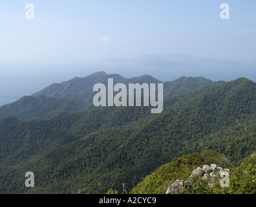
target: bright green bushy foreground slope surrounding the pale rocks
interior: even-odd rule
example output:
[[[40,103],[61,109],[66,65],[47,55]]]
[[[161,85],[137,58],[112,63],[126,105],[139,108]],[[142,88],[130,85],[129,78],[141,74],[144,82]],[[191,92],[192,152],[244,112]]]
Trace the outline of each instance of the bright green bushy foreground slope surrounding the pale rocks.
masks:
[[[232,166],[229,159],[216,151],[204,150],[201,153],[183,155],[183,157],[173,158],[155,169],[153,173],[147,175],[136,187],[131,190],[131,194],[165,194],[168,186],[171,186],[176,179],[181,180],[183,187],[179,187],[179,193],[183,194],[237,194],[256,193],[256,153],[251,153],[238,167]],[[216,164],[228,171],[228,186],[220,186],[220,179],[201,179],[197,176],[191,183],[186,184],[185,180],[190,177],[194,169],[203,166]],[[218,175],[218,174],[216,174]],[[218,178],[218,177],[216,177]],[[215,182],[214,182],[215,181]],[[212,185],[209,183],[212,182]]]

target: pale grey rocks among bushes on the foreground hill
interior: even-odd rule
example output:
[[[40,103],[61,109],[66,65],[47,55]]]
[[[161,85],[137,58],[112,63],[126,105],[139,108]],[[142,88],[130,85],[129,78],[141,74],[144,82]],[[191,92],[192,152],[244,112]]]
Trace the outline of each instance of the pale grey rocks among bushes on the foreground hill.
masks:
[[[179,194],[183,190],[185,184],[190,184],[193,177],[201,177],[202,179],[209,180],[209,186],[213,186],[216,179],[220,179],[222,174],[229,173],[229,169],[223,169],[216,164],[211,164],[211,166],[204,165],[203,168],[193,169],[190,176],[183,182],[183,180],[177,179],[172,185],[168,186],[166,194]],[[183,184],[184,183],[184,184]]]

